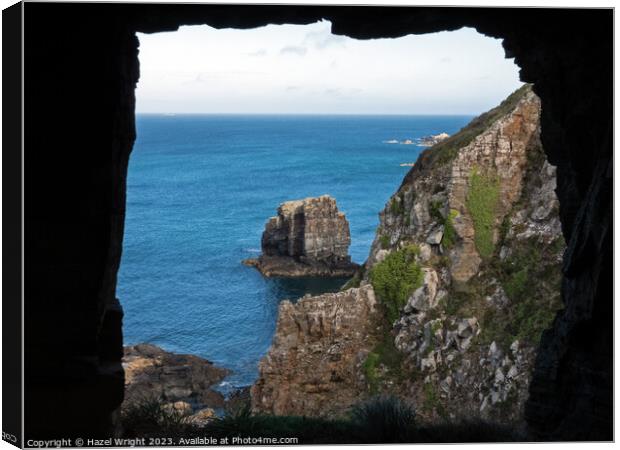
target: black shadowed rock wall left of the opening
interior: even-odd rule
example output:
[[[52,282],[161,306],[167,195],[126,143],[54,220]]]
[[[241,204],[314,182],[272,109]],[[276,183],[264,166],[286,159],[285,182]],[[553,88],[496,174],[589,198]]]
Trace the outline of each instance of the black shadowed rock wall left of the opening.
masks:
[[[138,41],[103,6],[29,3],[25,17],[26,437],[104,436],[123,400]]]

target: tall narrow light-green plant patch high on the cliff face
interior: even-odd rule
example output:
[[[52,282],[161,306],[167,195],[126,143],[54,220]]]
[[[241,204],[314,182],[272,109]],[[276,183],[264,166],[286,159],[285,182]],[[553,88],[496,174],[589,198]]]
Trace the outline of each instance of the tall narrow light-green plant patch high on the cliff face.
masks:
[[[474,243],[483,259],[493,255],[495,244],[495,209],[499,200],[499,179],[480,174],[474,169],[469,178],[469,192],[465,204],[474,223]]]

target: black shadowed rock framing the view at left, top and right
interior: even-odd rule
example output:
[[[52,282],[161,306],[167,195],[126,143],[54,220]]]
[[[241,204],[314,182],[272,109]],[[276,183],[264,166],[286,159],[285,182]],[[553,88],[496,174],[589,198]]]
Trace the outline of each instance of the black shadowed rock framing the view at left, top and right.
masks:
[[[612,438],[611,10],[25,5],[26,436],[106,434],[122,401],[115,299],[138,79],[135,31],[332,22],[354,38],[475,27],[542,100],[568,242],[566,308],[542,340],[536,439]]]

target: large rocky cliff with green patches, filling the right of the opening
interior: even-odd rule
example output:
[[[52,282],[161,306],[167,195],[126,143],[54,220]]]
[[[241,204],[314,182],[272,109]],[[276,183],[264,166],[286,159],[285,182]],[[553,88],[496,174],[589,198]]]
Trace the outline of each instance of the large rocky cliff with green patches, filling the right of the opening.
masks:
[[[369,258],[349,284],[359,289],[282,306],[254,408],[329,415],[393,393],[426,420],[520,423],[540,334],[561,305],[565,247],[555,169],[539,135],[540,101],[524,86],[422,153],[380,214]],[[309,320],[309,305],[324,317],[359,290],[374,294],[379,313],[360,314],[336,340],[320,326],[294,325]],[[330,359],[330,345],[343,341],[358,352]],[[347,374],[345,399],[328,373]],[[286,400],[274,407],[276,399]]]

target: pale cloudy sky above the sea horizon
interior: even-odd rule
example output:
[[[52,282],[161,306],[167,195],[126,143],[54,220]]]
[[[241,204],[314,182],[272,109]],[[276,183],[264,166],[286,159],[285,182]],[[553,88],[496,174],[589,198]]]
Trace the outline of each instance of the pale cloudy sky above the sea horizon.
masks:
[[[138,113],[480,114],[521,86],[473,29],[356,40],[326,21],[139,34]]]

